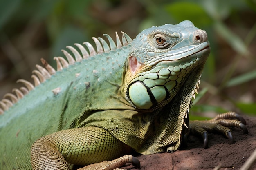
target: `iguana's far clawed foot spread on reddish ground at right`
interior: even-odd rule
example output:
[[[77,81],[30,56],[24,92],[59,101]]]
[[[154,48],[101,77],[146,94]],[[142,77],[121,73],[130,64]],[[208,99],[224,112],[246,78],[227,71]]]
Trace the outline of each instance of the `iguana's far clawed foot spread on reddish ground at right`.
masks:
[[[229,138],[229,144],[233,144],[232,131],[228,127],[237,127],[248,133],[245,119],[234,112],[227,112],[206,121],[190,121],[190,131],[201,135],[204,139],[204,148],[208,148],[208,132],[220,132]]]

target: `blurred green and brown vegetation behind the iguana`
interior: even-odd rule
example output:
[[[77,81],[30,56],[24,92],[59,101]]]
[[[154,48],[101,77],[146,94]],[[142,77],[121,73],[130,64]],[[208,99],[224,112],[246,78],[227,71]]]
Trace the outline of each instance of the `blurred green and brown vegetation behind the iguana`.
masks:
[[[0,97],[67,45],[191,20],[211,43],[193,112],[256,114],[255,18],[255,0],[1,0]]]

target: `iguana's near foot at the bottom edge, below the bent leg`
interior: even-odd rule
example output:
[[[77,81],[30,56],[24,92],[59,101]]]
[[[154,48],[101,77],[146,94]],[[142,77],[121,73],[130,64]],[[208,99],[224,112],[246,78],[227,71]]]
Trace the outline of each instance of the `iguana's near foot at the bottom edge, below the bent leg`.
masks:
[[[124,166],[126,163],[132,163],[135,168],[140,167],[140,162],[136,157],[133,157],[132,155],[124,155],[123,157],[114,159],[112,161],[90,164],[78,170],[125,170],[119,168]]]

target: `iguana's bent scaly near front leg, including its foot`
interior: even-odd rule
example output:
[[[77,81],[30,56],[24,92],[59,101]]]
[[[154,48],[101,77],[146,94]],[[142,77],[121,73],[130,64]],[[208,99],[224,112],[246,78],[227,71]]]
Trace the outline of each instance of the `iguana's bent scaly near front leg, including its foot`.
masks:
[[[99,162],[79,170],[112,170],[126,163],[139,166],[139,161],[131,155],[120,157],[130,150],[102,128],[74,128],[36,140],[31,146],[31,164],[33,170],[70,170],[69,164],[85,166]],[[112,159],[115,160],[106,161]]]

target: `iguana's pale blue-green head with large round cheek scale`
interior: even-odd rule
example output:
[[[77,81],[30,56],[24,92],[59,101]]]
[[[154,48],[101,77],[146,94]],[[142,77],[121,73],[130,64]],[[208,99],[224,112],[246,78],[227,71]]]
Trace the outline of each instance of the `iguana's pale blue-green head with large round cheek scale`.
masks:
[[[139,109],[165,106],[209,52],[207,33],[190,21],[146,29],[132,42],[123,95]]]

